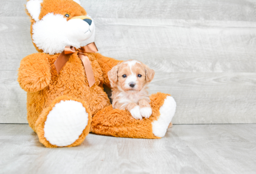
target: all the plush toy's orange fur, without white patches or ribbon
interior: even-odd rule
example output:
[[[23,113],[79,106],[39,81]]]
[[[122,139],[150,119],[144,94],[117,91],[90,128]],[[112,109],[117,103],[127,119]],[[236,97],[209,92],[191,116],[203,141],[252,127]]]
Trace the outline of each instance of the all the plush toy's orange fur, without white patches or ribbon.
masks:
[[[86,11],[73,0],[44,0],[41,4],[41,19],[47,13],[69,13],[71,17],[86,15]],[[31,35],[34,19],[31,19]],[[34,45],[39,52],[36,45]],[[103,84],[110,87],[108,71],[122,62],[99,53],[87,53],[96,83],[90,88],[81,59],[74,53],[58,75],[54,61],[60,54],[34,53],[20,62],[18,82],[27,91],[27,121],[37,133],[39,140],[48,148],[57,147],[44,137],[44,122],[48,113],[61,100],[74,100],[83,104],[89,114],[88,126],[74,143],[77,146],[88,135],[88,131],[99,135],[132,138],[159,138],[152,133],[151,122],[160,115],[159,108],[168,94],[150,96],[152,116],[135,120],[125,110],[114,110]],[[92,118],[91,118],[92,117]],[[91,125],[90,125],[91,123]]]

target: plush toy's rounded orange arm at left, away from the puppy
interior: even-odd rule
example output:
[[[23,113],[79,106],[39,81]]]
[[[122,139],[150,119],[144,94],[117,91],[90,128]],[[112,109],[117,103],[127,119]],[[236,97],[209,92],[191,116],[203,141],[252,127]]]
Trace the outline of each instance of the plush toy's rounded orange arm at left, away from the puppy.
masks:
[[[34,53],[20,62],[18,82],[27,92],[44,89],[51,79],[50,64],[45,53]]]

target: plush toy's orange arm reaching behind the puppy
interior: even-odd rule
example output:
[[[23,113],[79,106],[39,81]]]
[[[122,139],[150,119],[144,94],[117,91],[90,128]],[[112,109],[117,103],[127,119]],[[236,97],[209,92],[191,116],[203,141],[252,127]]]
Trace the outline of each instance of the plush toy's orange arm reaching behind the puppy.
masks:
[[[106,84],[110,88],[111,86],[108,79],[108,71],[110,71],[118,63],[121,63],[122,60],[116,60],[115,58],[108,58],[108,57],[102,56],[100,53],[95,53],[94,56],[97,58],[97,61],[101,66],[101,70],[103,72],[104,84]]]

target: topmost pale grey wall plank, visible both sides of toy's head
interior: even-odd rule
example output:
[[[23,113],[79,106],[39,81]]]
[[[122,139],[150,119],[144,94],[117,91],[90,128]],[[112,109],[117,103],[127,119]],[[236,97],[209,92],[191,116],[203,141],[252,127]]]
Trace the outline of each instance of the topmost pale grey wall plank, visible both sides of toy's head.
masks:
[[[255,0],[80,0],[94,18],[256,21]],[[26,0],[1,0],[0,16],[26,17]]]

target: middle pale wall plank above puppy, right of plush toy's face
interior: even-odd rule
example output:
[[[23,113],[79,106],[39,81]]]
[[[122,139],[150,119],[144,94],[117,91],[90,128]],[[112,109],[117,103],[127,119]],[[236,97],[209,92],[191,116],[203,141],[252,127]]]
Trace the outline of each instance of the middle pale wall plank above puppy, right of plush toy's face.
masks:
[[[106,56],[138,59],[161,72],[256,72],[256,22],[95,21]]]

